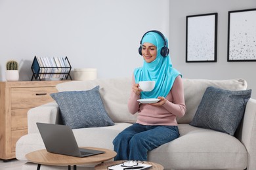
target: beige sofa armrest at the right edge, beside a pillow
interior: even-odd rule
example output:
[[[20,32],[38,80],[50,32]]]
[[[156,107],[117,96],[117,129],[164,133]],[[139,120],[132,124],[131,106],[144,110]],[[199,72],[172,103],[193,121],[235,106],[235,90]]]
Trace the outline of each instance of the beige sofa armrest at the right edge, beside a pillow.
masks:
[[[245,108],[244,120],[237,135],[247,149],[247,169],[256,167],[256,100],[249,99]]]

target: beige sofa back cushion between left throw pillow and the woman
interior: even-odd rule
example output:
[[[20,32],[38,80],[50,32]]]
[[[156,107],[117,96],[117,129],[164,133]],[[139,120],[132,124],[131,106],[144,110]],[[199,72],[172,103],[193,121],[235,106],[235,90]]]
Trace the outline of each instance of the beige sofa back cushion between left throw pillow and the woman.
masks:
[[[137,114],[130,114],[127,108],[131,93],[131,78],[71,81],[57,84],[56,88],[59,92],[81,91],[91,90],[98,85],[106,112],[114,122],[136,122]]]

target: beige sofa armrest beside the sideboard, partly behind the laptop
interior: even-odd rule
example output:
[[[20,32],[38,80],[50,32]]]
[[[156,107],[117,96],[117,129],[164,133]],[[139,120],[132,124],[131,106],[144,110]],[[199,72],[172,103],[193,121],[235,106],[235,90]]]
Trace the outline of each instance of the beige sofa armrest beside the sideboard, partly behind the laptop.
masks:
[[[28,110],[28,133],[39,133],[36,122],[59,123],[59,109],[56,102],[47,103]]]

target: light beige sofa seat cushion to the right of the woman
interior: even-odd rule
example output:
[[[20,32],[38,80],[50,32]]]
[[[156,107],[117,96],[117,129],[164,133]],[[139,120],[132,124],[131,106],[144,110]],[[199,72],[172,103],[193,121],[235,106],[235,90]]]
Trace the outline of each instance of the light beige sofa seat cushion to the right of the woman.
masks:
[[[148,160],[165,169],[246,168],[247,151],[235,137],[189,124],[179,124],[179,131],[178,139],[152,150]]]

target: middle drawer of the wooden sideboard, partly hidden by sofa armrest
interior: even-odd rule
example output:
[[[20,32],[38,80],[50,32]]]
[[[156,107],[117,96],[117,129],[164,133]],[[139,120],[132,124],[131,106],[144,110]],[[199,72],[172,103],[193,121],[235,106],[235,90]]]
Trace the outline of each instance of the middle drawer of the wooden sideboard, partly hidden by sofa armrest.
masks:
[[[29,109],[11,110],[11,130],[28,129],[28,110]]]

